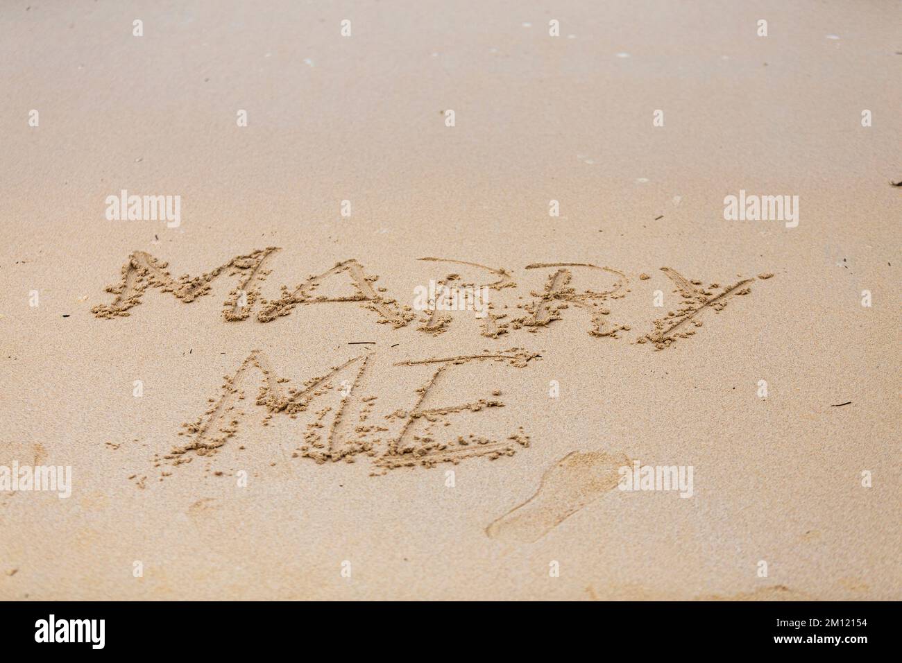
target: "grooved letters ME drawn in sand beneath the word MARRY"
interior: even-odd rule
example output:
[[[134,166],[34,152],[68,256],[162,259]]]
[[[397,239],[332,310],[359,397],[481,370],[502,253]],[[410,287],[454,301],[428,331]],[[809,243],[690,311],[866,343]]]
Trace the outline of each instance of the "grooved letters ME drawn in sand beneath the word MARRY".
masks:
[[[235,373],[225,376],[218,399],[210,399],[211,406],[196,421],[183,424],[179,435],[190,437],[188,444],[173,447],[170,453],[162,456],[161,461],[171,465],[189,462],[189,452],[198,456],[208,456],[223,447],[230,437],[238,432],[247,412],[241,409],[244,401],[247,375],[257,370],[262,375],[260,390],[254,404],[266,410],[263,425],[273,416],[288,415],[296,419],[302,412],[308,411],[310,404],[318,398],[329,394],[337,404],[326,405],[313,413],[312,420],[306,425],[303,443],[297,447],[294,456],[312,458],[318,463],[329,460],[354,462],[357,456],[372,457],[374,464],[383,469],[400,466],[436,465],[442,462],[456,463],[466,457],[511,456],[519,447],[529,447],[529,436],[522,428],[506,439],[499,440],[478,434],[442,436],[433,431],[439,425],[449,425],[449,418],[462,412],[479,412],[504,406],[503,401],[495,398],[477,398],[465,402],[451,404],[432,403],[434,387],[439,380],[447,380],[448,373],[455,366],[471,362],[501,362],[516,368],[526,367],[539,355],[520,348],[511,348],[499,353],[486,351],[478,355],[456,355],[450,357],[434,357],[423,360],[398,362],[395,366],[416,366],[425,364],[437,365],[423,386],[417,390],[416,400],[410,409],[394,410],[385,415],[384,422],[374,423],[371,420],[373,403],[376,397],[364,396],[364,378],[374,355],[359,355],[348,359],[343,364],[333,367],[328,373],[309,379],[300,389],[291,388],[288,378],[280,378],[272,371],[265,354],[254,350],[248,355]],[[354,371],[354,369],[356,369]],[[348,379],[341,383],[337,380],[343,375]],[[337,395],[340,392],[340,397]],[[500,391],[494,393],[500,394]],[[356,410],[357,418],[353,418]],[[324,423],[327,416],[333,417],[331,425]],[[396,435],[391,435],[391,426],[398,428]],[[415,432],[417,429],[422,430]],[[243,448],[243,447],[242,447]]]

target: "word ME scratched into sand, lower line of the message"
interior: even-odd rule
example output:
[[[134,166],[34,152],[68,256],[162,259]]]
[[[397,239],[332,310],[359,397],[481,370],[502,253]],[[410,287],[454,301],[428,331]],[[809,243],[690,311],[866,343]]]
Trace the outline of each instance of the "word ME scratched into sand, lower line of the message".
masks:
[[[259,387],[254,405],[265,413],[263,425],[274,424],[274,418],[306,420],[303,436],[298,440],[293,457],[306,457],[318,463],[340,461],[353,463],[358,458],[373,461],[372,474],[388,469],[438,463],[457,463],[464,458],[512,456],[520,447],[529,446],[529,436],[522,428],[503,433],[474,435],[467,432],[475,413],[504,407],[500,383],[483,396],[462,400],[443,390],[453,382],[451,376],[465,368],[483,368],[483,378],[502,382],[503,376],[491,369],[527,368],[540,357],[521,348],[476,355],[432,357],[393,362],[383,365],[378,380],[370,378],[374,364],[386,364],[375,353],[355,356],[344,364],[333,366],[326,374],[309,378],[294,388],[290,379],[280,377],[270,359],[254,350],[235,373],[227,375],[219,395],[211,398],[210,407],[196,421],[183,424],[181,436],[186,444],[173,447],[158,456],[159,464],[182,465],[195,456],[213,456],[234,437],[248,412],[243,409],[245,391]],[[398,394],[404,407],[374,414],[378,396],[373,386],[382,384],[390,369],[423,369],[422,383],[410,394]],[[472,373],[471,373],[472,376]],[[253,382],[253,377],[257,382]],[[454,385],[451,384],[453,387]],[[483,385],[484,387],[484,385]],[[287,424],[293,431],[297,424]],[[503,428],[503,425],[502,425]],[[243,447],[239,447],[241,449]]]

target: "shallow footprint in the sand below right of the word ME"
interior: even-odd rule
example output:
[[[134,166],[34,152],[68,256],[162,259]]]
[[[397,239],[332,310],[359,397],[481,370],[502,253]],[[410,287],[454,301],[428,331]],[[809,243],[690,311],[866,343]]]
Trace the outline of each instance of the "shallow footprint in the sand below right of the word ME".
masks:
[[[502,541],[538,541],[616,487],[623,465],[630,465],[630,459],[623,455],[572,451],[548,468],[529,500],[492,522],[485,533]]]

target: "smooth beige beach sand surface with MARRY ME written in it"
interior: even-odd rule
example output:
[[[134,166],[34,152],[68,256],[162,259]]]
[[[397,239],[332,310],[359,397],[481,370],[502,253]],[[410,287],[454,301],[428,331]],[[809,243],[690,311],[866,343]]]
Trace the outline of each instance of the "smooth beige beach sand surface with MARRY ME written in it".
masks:
[[[0,598],[902,599],[897,3],[555,5],[0,6]]]

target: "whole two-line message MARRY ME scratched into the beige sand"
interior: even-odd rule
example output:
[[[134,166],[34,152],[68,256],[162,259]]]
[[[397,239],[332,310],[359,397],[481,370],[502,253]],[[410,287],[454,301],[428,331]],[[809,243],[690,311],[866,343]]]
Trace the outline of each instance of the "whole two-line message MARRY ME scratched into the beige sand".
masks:
[[[591,336],[618,339],[631,331],[629,324],[610,321],[612,308],[609,307],[631,292],[627,273],[612,267],[586,262],[530,263],[525,270],[544,272],[546,279],[540,289],[529,290],[527,299],[518,294],[513,274],[506,268],[449,258],[421,258],[420,261],[440,265],[450,273],[430,279],[428,286],[417,284],[413,288],[411,306],[400,303],[387,289],[377,286],[378,277],[367,272],[362,262],[352,258],[309,276],[294,288],[283,285],[278,296],[266,299],[262,297],[263,283],[271,274],[273,256],[279,251],[274,246],[259,249],[235,256],[200,276],[186,274],[179,278],[171,276],[167,263],[149,253],[136,251],[123,265],[120,281],[106,289],[114,295],[113,301],[98,305],[92,311],[97,318],[128,317],[131,310],[142,303],[148,289],[169,292],[180,301],[192,302],[209,294],[213,281],[227,275],[236,279],[223,304],[222,315],[229,323],[248,320],[254,313],[257,322],[272,323],[277,318],[289,316],[299,306],[351,303],[369,311],[376,322],[394,329],[407,327],[419,313],[417,329],[433,336],[446,332],[453,319],[452,311],[468,307],[474,310],[473,318],[478,321],[482,336],[492,339],[522,332],[538,333],[562,320],[568,308],[588,314]],[[459,273],[474,271],[485,272],[485,282],[467,281]],[[686,278],[670,267],[662,267],[660,272],[671,282],[678,303],[671,305],[670,310],[665,308],[666,314],[658,314],[650,329],[635,333],[633,337],[634,343],[657,350],[667,348],[677,339],[694,336],[696,329],[702,326],[700,318],[705,311],[719,312],[734,295],[749,293],[750,283],[754,281],[740,278],[730,285],[712,282],[704,286],[702,281]],[[603,286],[577,290],[573,284],[575,273],[579,273],[581,279],[591,278],[590,282],[603,283]],[[759,279],[770,276],[772,274],[761,274]],[[638,278],[639,281],[651,279],[645,273],[640,273]],[[341,294],[336,294],[336,286],[341,287]],[[321,294],[324,290],[332,294]],[[507,293],[505,297],[501,296],[502,290]],[[488,292],[499,293],[498,301],[492,301]],[[651,305],[663,308],[663,299],[663,292],[654,290]],[[302,386],[293,388],[289,378],[277,376],[266,355],[254,350],[235,373],[226,376],[218,395],[208,400],[207,411],[197,420],[183,425],[179,435],[187,437],[188,441],[157,456],[155,463],[157,466],[184,465],[198,456],[215,456],[230,438],[238,435],[248,416],[244,406],[248,402],[245,386],[252,379],[250,375],[260,377],[259,382],[255,382],[259,392],[253,403],[264,410],[263,426],[279,428],[285,425],[285,419],[303,417],[306,420],[303,439],[292,457],[307,457],[318,463],[370,459],[373,474],[384,474],[387,469],[400,466],[457,463],[472,456],[511,456],[518,448],[529,445],[529,436],[510,420],[501,432],[486,432],[484,413],[497,412],[504,406],[500,398],[502,390],[495,388],[490,392],[486,384],[490,379],[502,381],[502,377],[477,377],[472,372],[487,365],[526,368],[540,357],[538,353],[513,347],[405,362],[387,362],[387,356],[372,351],[354,356],[325,375],[309,378]],[[419,367],[428,373],[421,378],[420,386],[409,394],[408,401],[403,401],[404,407],[377,410],[378,396],[367,394],[366,387],[373,383],[369,371],[376,364],[381,364],[376,383],[390,380],[386,372],[392,369],[404,371]],[[443,399],[439,392],[448,387],[449,375],[464,366],[472,373],[465,377],[464,383],[478,385],[477,389],[482,389],[483,393],[468,400]],[[410,374],[397,375],[399,383],[405,380],[410,381]],[[554,381],[550,384],[549,395],[554,397],[557,385]],[[450,391],[455,393],[454,389]],[[474,428],[467,428],[473,425],[468,417],[478,412],[483,413],[482,434],[475,435]],[[512,423],[517,429],[511,430]],[[296,437],[296,431],[289,434]],[[237,448],[244,449],[244,446]],[[143,482],[145,478],[138,481]]]

